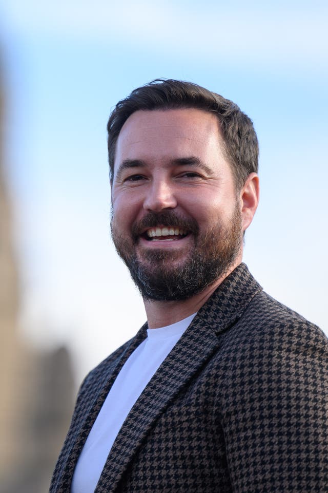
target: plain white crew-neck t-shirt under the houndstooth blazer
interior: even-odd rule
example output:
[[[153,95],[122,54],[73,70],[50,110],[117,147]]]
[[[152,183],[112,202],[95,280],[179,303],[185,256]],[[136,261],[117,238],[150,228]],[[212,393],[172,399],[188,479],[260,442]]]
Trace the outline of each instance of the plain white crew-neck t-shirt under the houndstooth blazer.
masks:
[[[167,327],[147,330],[147,338],[122,366],[91,428],[74,470],[71,493],[94,493],[127,415],[195,315]]]

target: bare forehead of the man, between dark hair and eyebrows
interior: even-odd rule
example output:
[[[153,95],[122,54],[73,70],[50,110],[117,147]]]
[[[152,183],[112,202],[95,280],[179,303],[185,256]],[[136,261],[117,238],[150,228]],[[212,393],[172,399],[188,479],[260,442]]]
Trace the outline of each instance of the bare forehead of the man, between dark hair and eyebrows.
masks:
[[[217,117],[195,108],[139,110],[122,126],[115,163],[124,159],[183,157],[186,154],[222,154]]]

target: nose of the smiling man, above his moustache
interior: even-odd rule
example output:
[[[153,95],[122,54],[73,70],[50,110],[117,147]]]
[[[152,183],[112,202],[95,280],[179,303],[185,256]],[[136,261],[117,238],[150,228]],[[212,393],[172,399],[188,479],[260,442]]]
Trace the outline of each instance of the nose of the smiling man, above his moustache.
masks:
[[[174,209],[176,206],[177,201],[173,193],[172,184],[164,179],[153,181],[147,189],[144,209],[146,211],[160,212],[163,209]]]

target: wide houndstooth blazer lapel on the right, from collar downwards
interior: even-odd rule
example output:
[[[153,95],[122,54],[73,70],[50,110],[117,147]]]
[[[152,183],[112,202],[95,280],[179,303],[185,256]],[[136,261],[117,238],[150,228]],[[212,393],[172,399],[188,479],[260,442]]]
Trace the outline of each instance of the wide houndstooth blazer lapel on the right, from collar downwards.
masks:
[[[225,279],[139,396],[113,444],[95,493],[115,491],[159,415],[220,345],[220,334],[241,317],[261,287],[244,264]]]

